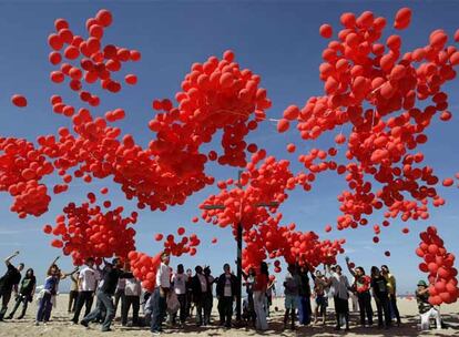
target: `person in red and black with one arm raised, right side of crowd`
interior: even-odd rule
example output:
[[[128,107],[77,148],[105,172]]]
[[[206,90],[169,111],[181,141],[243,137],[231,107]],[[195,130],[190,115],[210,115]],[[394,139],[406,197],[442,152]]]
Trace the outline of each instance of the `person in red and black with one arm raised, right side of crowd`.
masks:
[[[365,321],[365,316],[368,319],[368,326],[373,325],[373,308],[371,308],[371,278],[368,275],[365,275],[365,269],[363,267],[356,267],[354,270],[350,266],[349,258],[346,257],[347,268],[349,273],[354,276],[354,289],[357,293],[358,307],[360,309],[360,325],[367,326]]]

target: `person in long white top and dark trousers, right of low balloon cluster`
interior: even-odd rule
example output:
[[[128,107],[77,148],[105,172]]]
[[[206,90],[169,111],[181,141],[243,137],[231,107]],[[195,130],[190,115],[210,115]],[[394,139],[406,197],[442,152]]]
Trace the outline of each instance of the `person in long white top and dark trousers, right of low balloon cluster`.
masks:
[[[156,285],[151,300],[151,331],[159,335],[163,328],[163,320],[166,313],[166,297],[171,288],[171,269],[169,268],[170,255],[164,252],[161,254],[161,265],[156,272]]]

